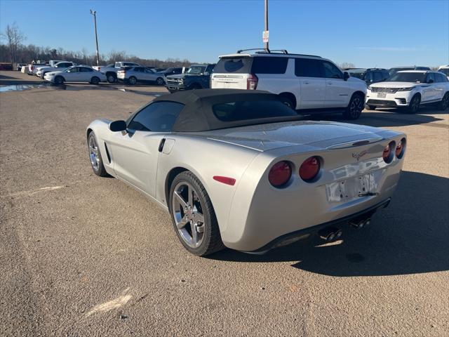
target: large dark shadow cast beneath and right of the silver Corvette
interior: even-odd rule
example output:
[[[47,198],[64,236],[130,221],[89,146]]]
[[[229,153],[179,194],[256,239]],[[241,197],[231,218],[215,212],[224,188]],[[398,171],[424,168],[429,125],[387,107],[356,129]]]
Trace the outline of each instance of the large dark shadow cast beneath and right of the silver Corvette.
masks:
[[[243,263],[291,261],[297,269],[335,277],[449,270],[448,192],[448,178],[404,171],[389,207],[376,213],[369,227],[344,227],[340,242],[325,244],[314,237],[264,255],[226,249],[210,258]]]

